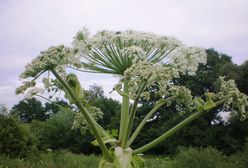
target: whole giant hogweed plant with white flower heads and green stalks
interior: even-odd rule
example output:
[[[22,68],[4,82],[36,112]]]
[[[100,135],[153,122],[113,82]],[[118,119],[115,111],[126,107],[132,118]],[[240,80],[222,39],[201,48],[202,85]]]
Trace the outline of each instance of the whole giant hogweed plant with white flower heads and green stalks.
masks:
[[[233,80],[220,78],[218,92],[206,92],[205,97],[195,98],[186,87],[173,83],[181,74],[194,75],[198,65],[204,63],[204,49],[186,47],[175,38],[136,31],[101,31],[90,35],[87,29],[82,29],[74,37],[72,48],[63,45],[51,47],[28,64],[20,76],[23,85],[16,92],[44,97],[40,95],[44,91],[36,87],[36,81],[47,73],[48,77],[43,78],[46,91],[63,91],[65,98],[80,111],[74,127],[89,129],[94,135],[96,140],[93,144],[98,145],[103,154],[99,168],[139,168],[144,167],[144,160],[139,154],[217,106],[223,107],[223,111],[234,112],[242,120],[248,117],[247,96],[239,92]],[[119,78],[114,87],[122,97],[118,138],[97,123],[102,112],[89,105],[77,76],[67,74],[68,68],[112,74]],[[140,100],[149,99],[150,93],[158,101],[134,128],[136,111],[142,106]],[[176,104],[175,109],[180,113],[190,112],[191,115],[161,132],[161,136],[148,144],[133,149],[132,143],[147,121],[156,117],[154,115],[159,108],[172,104]]]

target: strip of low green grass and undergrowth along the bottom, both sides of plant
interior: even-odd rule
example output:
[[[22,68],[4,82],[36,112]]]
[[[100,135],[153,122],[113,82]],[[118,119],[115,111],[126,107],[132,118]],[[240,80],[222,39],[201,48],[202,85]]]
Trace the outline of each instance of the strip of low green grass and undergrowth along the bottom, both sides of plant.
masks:
[[[145,155],[147,168],[247,168],[248,148],[231,156],[208,148],[181,148],[178,154],[166,156]],[[0,168],[97,168],[100,156],[79,155],[70,152],[43,152],[24,159],[0,156]]]

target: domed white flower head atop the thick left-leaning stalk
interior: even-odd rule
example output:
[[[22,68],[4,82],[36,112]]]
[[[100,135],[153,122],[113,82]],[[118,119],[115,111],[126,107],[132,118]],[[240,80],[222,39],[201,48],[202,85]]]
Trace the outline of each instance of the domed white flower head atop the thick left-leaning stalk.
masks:
[[[64,45],[50,47],[48,50],[41,52],[30,64],[26,65],[25,71],[20,78],[26,79],[36,77],[42,71],[50,69],[64,70],[65,65],[79,66],[79,56],[76,51]]]

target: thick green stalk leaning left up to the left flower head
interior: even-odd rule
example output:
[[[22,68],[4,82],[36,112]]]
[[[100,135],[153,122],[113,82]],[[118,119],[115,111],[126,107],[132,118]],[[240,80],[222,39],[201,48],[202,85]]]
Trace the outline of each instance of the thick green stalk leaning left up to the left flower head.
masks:
[[[88,110],[81,104],[81,102],[77,101],[77,98],[75,96],[75,93],[71,89],[71,87],[68,85],[66,81],[63,80],[63,78],[55,71],[51,70],[51,72],[54,74],[54,76],[59,80],[59,82],[63,85],[63,87],[66,89],[66,91],[70,94],[72,99],[76,100],[75,105],[79,108],[83,116],[85,117],[86,121],[88,122],[94,136],[96,137],[96,140],[103,152],[103,157],[108,162],[113,162],[112,157],[110,156],[110,153],[108,151],[108,148],[103,143],[100,133],[95,125],[96,121],[92,118],[92,116],[89,114]]]

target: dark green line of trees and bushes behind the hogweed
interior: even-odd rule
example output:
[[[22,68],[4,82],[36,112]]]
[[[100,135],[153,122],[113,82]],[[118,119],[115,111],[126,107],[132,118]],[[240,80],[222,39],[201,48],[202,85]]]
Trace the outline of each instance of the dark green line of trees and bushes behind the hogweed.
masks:
[[[248,94],[248,61],[236,65],[231,57],[214,49],[206,50],[208,61],[200,65],[196,76],[184,75],[175,81],[192,91],[193,96],[203,96],[205,91],[218,87],[218,77],[234,79],[238,88]],[[156,88],[154,88],[156,89]],[[118,136],[120,104],[104,96],[101,87],[92,86],[87,92],[91,105],[99,107],[103,116],[98,122],[113,136]],[[144,106],[137,112],[137,125],[156,102],[151,96],[149,101],[142,100]],[[71,110],[74,109],[74,110]],[[160,136],[177,124],[189,113],[176,112],[171,107],[162,107],[153,119],[143,128],[134,149]],[[68,150],[74,153],[99,153],[98,147],[91,144],[94,140],[89,130],[72,129],[77,110],[67,102],[42,104],[37,99],[25,99],[14,105],[10,113],[1,107],[0,115],[0,154],[24,157],[30,152],[46,150]],[[152,125],[152,127],[150,127]],[[242,151],[248,137],[248,121],[241,122],[220,109],[209,112],[185,129],[149,151],[152,154],[174,155],[179,146],[212,146],[226,155]]]

